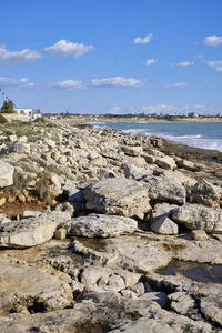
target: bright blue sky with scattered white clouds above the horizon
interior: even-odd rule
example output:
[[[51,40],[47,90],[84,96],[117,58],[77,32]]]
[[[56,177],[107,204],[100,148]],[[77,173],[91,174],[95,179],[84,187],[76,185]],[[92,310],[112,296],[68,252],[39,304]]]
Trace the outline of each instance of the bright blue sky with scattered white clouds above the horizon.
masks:
[[[221,0],[0,0],[0,105],[222,113]]]

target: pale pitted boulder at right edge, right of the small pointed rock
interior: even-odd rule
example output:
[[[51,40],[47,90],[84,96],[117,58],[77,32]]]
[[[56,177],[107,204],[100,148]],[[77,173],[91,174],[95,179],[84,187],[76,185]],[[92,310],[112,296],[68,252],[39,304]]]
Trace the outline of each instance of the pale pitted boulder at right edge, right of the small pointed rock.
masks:
[[[191,230],[222,233],[222,210],[186,203],[173,211],[173,219]]]

